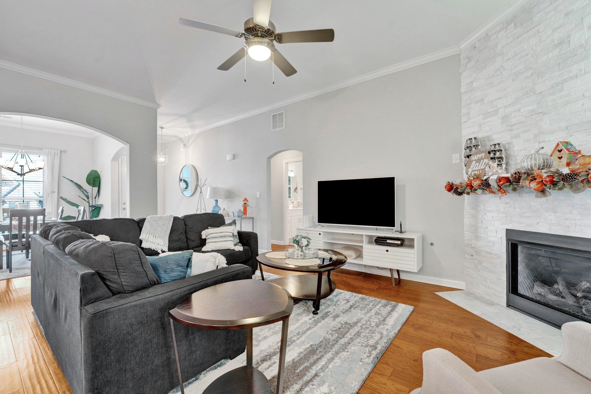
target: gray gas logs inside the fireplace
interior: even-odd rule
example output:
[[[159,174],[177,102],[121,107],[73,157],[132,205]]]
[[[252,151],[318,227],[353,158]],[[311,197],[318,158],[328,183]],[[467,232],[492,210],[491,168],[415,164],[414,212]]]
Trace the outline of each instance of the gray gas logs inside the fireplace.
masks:
[[[574,288],[569,289],[564,279],[558,276],[557,283],[553,287],[544,285],[541,282],[534,283],[534,293],[553,301],[557,304],[573,305],[581,307],[583,313],[591,316],[591,284],[583,281]]]

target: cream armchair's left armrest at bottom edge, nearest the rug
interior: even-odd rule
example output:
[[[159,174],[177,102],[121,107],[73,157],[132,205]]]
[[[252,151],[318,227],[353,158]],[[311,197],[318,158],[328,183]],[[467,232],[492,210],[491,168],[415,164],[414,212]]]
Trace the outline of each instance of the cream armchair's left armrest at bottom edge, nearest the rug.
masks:
[[[421,394],[500,394],[491,383],[450,351],[431,349],[423,353]]]

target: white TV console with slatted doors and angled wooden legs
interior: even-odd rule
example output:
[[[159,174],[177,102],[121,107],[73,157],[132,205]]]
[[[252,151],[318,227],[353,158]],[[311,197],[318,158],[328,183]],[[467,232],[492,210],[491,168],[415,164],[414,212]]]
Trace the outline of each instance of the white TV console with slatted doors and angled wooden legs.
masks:
[[[356,259],[348,259],[348,263],[371,265],[389,268],[392,285],[396,286],[394,270],[397,272],[400,284],[400,270],[417,272],[423,266],[423,234],[422,233],[392,233],[391,231],[360,229],[359,227],[324,226],[298,227],[298,234],[310,237],[312,248],[336,249],[343,246],[353,246],[361,250]],[[390,236],[404,238],[404,246],[375,245],[375,237]],[[346,267],[346,265],[345,265]]]

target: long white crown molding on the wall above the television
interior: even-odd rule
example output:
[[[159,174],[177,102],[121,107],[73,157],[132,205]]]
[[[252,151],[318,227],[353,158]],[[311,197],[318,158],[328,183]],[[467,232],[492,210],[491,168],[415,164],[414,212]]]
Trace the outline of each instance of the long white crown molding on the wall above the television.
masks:
[[[420,56],[411,60],[403,61],[402,63],[394,64],[393,66],[388,66],[384,69],[375,70],[371,73],[363,74],[358,77],[344,80],[342,82],[337,82],[329,86],[321,87],[320,89],[311,90],[311,92],[303,93],[301,95],[291,97],[290,99],[282,100],[268,106],[264,106],[249,112],[241,113],[240,115],[233,116],[232,118],[228,118],[220,122],[212,123],[211,125],[205,126],[203,128],[187,132],[186,135],[193,135],[222,125],[227,125],[228,123],[236,122],[245,118],[250,118],[251,116],[258,115],[259,113],[281,108],[301,100],[306,100],[314,96],[323,95],[324,93],[333,92],[333,90],[343,89],[343,87],[348,87],[357,83],[368,81],[370,79],[379,78],[388,74],[396,73],[397,71],[410,69],[411,67],[420,66],[421,64],[429,63],[430,61],[439,60],[441,58],[452,56],[458,53],[460,53],[460,48],[457,45],[454,45],[453,47],[426,54],[424,56]]]

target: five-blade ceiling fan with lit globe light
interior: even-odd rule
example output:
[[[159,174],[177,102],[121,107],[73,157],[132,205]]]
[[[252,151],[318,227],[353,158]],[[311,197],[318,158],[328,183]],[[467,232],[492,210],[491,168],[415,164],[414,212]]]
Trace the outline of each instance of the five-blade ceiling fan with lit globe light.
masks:
[[[251,58],[258,61],[267,60],[273,54],[272,61],[285,74],[286,77],[297,73],[297,70],[290,64],[280,51],[275,48],[274,43],[327,43],[335,40],[335,31],[332,29],[321,30],[301,30],[276,33],[275,25],[269,21],[271,14],[271,0],[253,0],[252,11],[254,17],[246,19],[242,31],[232,30],[226,27],[210,25],[209,23],[193,21],[191,19],[180,18],[178,23],[185,26],[196,27],[198,29],[215,31],[222,34],[233,35],[234,37],[244,38],[245,43],[242,48],[223,62],[218,70],[228,71],[238,63],[246,52]]]

